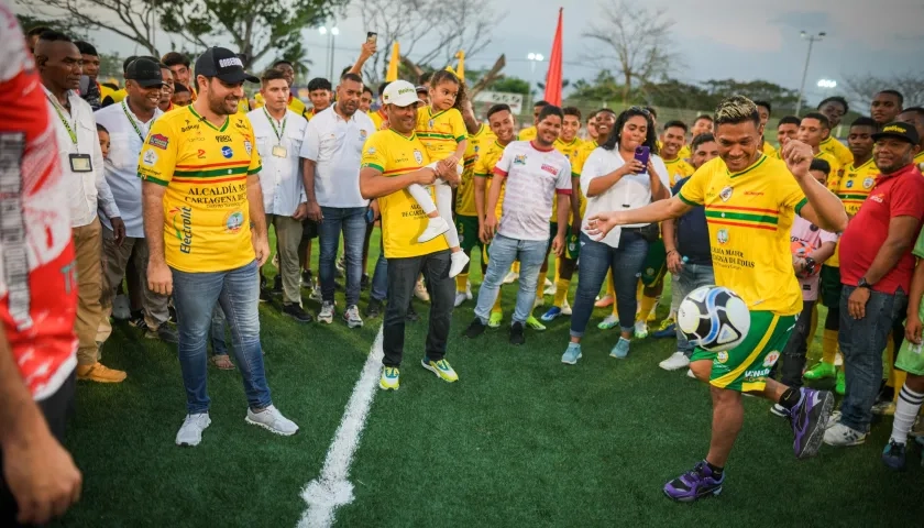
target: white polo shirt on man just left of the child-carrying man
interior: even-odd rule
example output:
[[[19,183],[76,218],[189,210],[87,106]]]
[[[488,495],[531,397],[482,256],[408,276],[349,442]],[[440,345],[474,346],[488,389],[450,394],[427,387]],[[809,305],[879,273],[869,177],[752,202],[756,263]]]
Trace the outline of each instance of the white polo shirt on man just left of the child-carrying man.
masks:
[[[321,207],[366,207],[360,194],[363,144],[375,124],[363,111],[343,119],[332,105],[316,114],[305,129],[301,157],[317,163],[315,198]]]

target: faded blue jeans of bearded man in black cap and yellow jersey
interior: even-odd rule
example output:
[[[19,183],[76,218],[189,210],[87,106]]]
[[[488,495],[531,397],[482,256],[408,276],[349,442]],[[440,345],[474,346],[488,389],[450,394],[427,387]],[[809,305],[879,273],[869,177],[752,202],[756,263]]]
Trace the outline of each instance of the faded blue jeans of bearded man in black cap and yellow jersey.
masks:
[[[209,410],[206,341],[216,302],[221,304],[231,326],[234,358],[244,381],[248,404],[252,409],[272,405],[263,371],[263,349],[260,345],[260,278],[256,261],[227,272],[172,271],[179,331],[177,349],[183,385],[186,387],[187,413],[195,415]]]

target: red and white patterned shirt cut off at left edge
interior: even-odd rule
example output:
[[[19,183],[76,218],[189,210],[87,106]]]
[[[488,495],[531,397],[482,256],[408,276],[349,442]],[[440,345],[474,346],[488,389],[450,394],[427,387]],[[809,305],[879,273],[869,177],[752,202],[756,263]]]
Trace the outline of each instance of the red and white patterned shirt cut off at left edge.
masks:
[[[36,400],[77,365],[70,218],[45,90],[0,2],[0,324]]]

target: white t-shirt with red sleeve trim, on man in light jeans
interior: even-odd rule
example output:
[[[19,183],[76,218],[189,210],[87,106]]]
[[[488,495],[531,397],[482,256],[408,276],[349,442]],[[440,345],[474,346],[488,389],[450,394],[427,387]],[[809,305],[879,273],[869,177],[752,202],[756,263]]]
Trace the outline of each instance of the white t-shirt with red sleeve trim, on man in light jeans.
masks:
[[[506,178],[504,215],[497,232],[517,240],[549,240],[549,217],[558,195],[571,195],[571,162],[554,147],[540,151],[530,141],[504,148],[494,174]]]

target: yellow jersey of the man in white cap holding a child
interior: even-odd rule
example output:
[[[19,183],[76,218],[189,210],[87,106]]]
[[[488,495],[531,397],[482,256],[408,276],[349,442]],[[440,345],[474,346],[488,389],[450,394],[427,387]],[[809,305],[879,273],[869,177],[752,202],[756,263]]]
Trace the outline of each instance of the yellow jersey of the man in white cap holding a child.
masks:
[[[413,173],[429,164],[427,147],[416,133],[408,138],[392,129],[380,130],[370,135],[363,145],[362,167],[375,168],[386,177]],[[429,193],[436,204],[432,186]],[[386,258],[422,256],[449,249],[446,237],[437,237],[425,244],[417,242],[427,229],[428,220],[424,209],[407,189],[380,197],[378,207],[382,210],[382,239]]]

